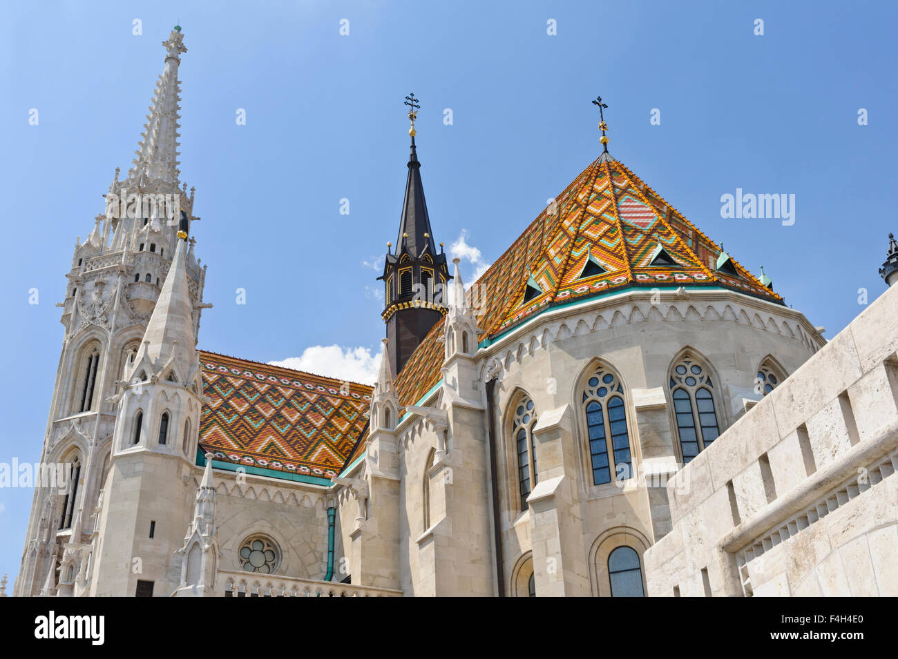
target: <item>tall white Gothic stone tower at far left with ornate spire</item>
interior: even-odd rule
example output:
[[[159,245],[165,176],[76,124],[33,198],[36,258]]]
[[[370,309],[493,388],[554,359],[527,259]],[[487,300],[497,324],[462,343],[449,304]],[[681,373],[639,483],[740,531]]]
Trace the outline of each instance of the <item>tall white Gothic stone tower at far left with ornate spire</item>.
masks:
[[[181,433],[189,404],[198,405],[201,393],[191,390],[198,377],[188,363],[196,361],[200,310],[207,307],[202,303],[206,270],[193,256],[193,240],[188,247],[185,239],[178,238],[180,230],[189,233],[191,221],[199,219],[193,216],[193,189],[188,194],[186,184],[179,180],[178,66],[180,54],[187,51],[179,26],[163,41],[163,47],[163,74],[156,84],[136,159],[125,180],[119,180],[116,169],[105,195],[105,214],[96,217],[84,243],[80,238],[75,243],[66,273],[65,301],[57,305],[63,309],[65,334],[40,461],[65,465],[58,471],[71,473],[71,478],[35,483],[15,595],[98,592],[92,583],[99,564],[97,550],[103,546],[110,551],[109,542],[104,544],[101,536],[102,507],[104,500],[107,506],[113,502],[110,492],[104,497],[102,490],[116,461],[114,454],[122,448],[113,446],[114,438],[121,438],[124,427],[133,425],[128,405],[136,387],[143,388],[144,396],[158,396],[156,400],[168,397],[184,402],[184,407],[170,412],[167,450],[174,454],[177,447],[177,460],[186,466],[192,465],[195,457],[190,451],[195,454],[196,439],[185,454]],[[174,274],[177,276],[167,277]],[[159,318],[157,328],[163,328],[151,333],[151,315],[159,315],[154,315],[154,309],[166,291],[165,315],[173,313],[178,320]],[[178,323],[185,322],[189,325],[174,331]],[[179,343],[164,343],[174,334]],[[151,381],[131,381],[140,375],[135,363],[145,367]],[[160,372],[163,367],[168,368]],[[168,379],[170,375],[174,382]],[[156,385],[155,379],[160,377],[164,384]],[[172,393],[179,387],[182,391]],[[160,436],[161,406],[157,403],[152,412],[144,410],[145,433],[155,433],[154,441]],[[198,407],[189,426],[194,435],[197,422]],[[43,473],[54,471],[51,467]],[[183,528],[180,525],[177,533],[172,533],[180,536]],[[146,531],[141,529],[139,535],[145,536]],[[137,534],[134,529],[130,533]],[[124,570],[119,568],[119,572]],[[126,593],[115,590],[113,594]]]

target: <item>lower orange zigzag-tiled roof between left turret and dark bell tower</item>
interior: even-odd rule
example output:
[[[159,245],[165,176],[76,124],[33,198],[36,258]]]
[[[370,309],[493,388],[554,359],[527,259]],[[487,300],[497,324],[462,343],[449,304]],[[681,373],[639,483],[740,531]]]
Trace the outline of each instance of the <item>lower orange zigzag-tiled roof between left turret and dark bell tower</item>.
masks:
[[[216,460],[333,478],[365,431],[372,387],[200,351],[199,444]]]

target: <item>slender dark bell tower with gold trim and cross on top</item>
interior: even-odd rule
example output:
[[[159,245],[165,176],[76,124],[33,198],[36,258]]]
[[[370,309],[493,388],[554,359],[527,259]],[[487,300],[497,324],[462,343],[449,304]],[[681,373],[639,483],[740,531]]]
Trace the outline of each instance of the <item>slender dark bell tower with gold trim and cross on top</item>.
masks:
[[[452,279],[446,267],[442,243],[437,251],[434,232],[430,228],[421,163],[416,151],[415,119],[418,100],[413,93],[405,97],[409,106],[409,175],[405,183],[405,199],[396,245],[387,243],[383,264],[383,322],[387,325],[387,355],[394,374],[399,374],[427,333],[446,313],[445,286]]]

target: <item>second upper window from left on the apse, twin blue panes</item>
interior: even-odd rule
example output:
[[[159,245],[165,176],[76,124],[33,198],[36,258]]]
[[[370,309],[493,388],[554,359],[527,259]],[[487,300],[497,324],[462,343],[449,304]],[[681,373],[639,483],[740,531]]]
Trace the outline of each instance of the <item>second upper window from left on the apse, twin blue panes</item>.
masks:
[[[599,364],[586,380],[581,404],[586,414],[593,484],[611,482],[612,474],[615,481],[626,481],[633,475],[633,457],[620,378]]]

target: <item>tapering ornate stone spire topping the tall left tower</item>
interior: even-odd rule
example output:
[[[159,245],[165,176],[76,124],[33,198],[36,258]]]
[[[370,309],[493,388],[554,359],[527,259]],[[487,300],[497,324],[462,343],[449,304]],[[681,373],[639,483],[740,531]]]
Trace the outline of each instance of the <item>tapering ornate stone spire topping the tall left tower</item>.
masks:
[[[178,138],[180,133],[180,81],[178,65],[180,54],[186,53],[184,37],[180,33],[180,25],[176,25],[168,39],[163,41],[165,47],[165,67],[150,105],[150,114],[146,116],[144,134],[138,143],[128,180],[139,183],[142,178],[162,181],[176,185],[180,173],[178,165]]]

